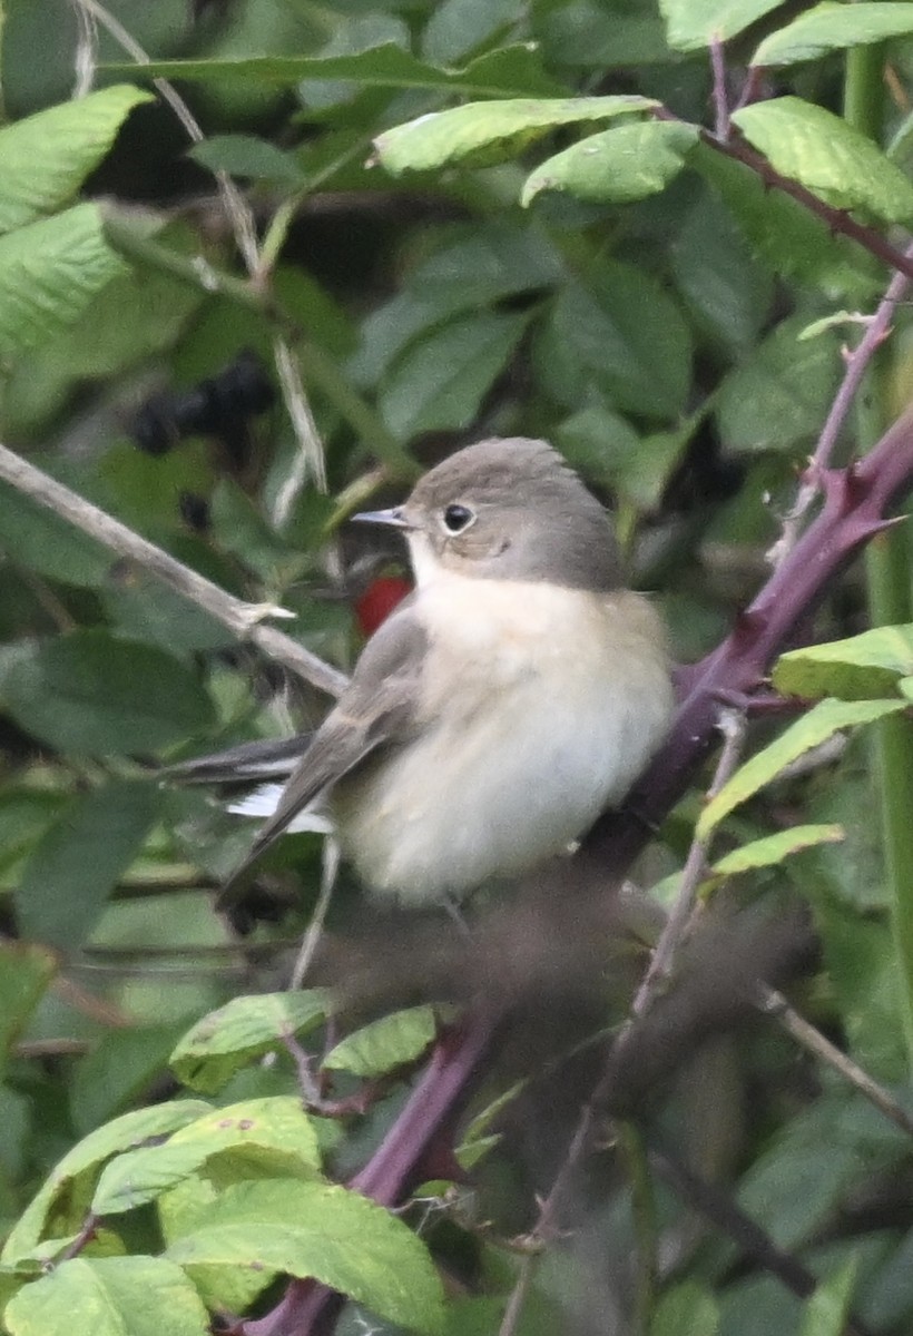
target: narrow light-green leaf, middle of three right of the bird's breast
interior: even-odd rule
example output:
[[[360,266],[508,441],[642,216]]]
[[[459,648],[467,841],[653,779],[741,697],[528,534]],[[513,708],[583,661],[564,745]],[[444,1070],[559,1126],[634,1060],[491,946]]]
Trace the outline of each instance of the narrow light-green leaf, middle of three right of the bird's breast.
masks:
[[[725,816],[779,775],[805,752],[826,741],[842,728],[870,724],[906,708],[904,700],[822,700],[802,719],[781,733],[769,747],[741,766],[729,783],[711,798],[698,820],[695,834],[706,839]]]

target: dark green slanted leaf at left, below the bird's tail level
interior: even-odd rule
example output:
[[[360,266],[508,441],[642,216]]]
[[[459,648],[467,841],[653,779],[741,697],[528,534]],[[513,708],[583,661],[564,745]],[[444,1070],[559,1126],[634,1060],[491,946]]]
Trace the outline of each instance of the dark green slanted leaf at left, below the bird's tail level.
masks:
[[[28,858],[16,888],[27,938],[79,947],[162,807],[152,782],[111,780],[75,799]]]

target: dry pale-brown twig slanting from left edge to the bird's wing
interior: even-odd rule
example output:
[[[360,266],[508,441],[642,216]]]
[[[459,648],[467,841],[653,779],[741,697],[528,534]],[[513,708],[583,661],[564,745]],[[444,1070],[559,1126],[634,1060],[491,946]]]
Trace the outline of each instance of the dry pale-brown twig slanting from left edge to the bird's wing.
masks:
[[[205,576],[198,574],[190,566],[175,560],[167,552],[156,548],[155,544],[140,538],[138,533],[128,529],[119,520],[112,518],[84,501],[83,497],[63,486],[55,478],[41,473],[32,464],[27,464],[7,446],[0,445],[0,478],[12,484],[20,492],[31,496],[40,505],[48,506],[63,516],[78,529],[91,534],[107,548],[136,561],[144,570],[176,589],[184,599],[190,599],[210,616],[227,627],[239,640],[249,640],[262,649],[270,659],[285,664],[305,681],[328,692],[330,696],[341,695],[346,685],[346,677],[330,664],[323,663],[303,645],[291,640],[274,627],[262,625],[262,619],[282,615],[282,609],[262,604],[243,603],[233,595],[219,589]]]

